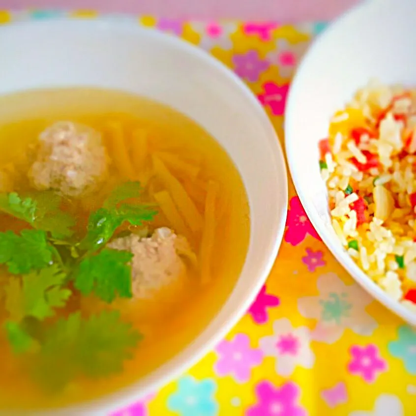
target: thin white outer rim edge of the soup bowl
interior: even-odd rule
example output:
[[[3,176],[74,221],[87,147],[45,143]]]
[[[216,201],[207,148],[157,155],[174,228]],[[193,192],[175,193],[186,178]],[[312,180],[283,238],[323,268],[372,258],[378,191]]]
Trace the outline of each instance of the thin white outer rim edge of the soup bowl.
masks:
[[[270,140],[268,141],[268,147],[273,155],[274,158],[274,166],[277,168],[280,166],[282,173],[284,174],[283,178],[279,178],[280,186],[280,193],[284,196],[284,201],[282,202],[282,213],[281,213],[281,221],[276,224],[270,230],[270,241],[268,244],[267,251],[269,255],[267,256],[267,261],[263,262],[262,265],[259,267],[258,277],[253,282],[253,285],[250,287],[249,291],[247,292],[247,296],[240,300],[238,307],[235,309],[235,312],[228,317],[227,322],[215,333],[212,334],[205,334],[207,328],[204,329],[190,344],[188,344],[183,350],[181,350],[176,356],[172,357],[170,360],[162,364],[162,367],[165,365],[169,365],[168,368],[162,376],[155,375],[155,378],[158,378],[158,381],[152,383],[150,386],[146,386],[142,388],[141,393],[135,395],[134,388],[139,382],[132,383],[128,386],[122,387],[119,390],[105,394],[100,396],[97,399],[87,400],[75,405],[68,405],[64,408],[51,408],[51,409],[39,409],[36,411],[28,411],[31,415],[74,415],[83,414],[82,412],[88,412],[89,416],[92,415],[101,415],[102,413],[95,413],[97,412],[94,408],[105,408],[106,412],[114,412],[121,409],[124,406],[134,403],[136,400],[140,400],[141,398],[145,397],[149,393],[153,393],[154,390],[165,386],[169,382],[176,379],[180,374],[184,373],[186,370],[194,366],[198,361],[200,361],[203,357],[205,357],[209,352],[211,352],[214,347],[220,342],[225,336],[230,332],[230,330],[235,327],[238,321],[246,314],[247,310],[249,309],[252,302],[257,297],[257,294],[261,290],[262,286],[267,280],[267,277],[270,273],[271,268],[276,260],[280,245],[282,243],[285,227],[286,227],[286,218],[287,218],[287,206],[288,206],[288,199],[289,199],[289,189],[288,189],[288,175],[287,175],[287,168],[286,162],[283,155],[283,149],[280,144],[279,138],[277,136],[277,132],[275,131],[271,120],[268,118],[266,111],[258,101],[257,97],[254,93],[249,89],[249,87],[226,65],[224,65],[221,61],[214,58],[205,50],[199,48],[196,45],[193,45],[179,37],[169,35],[163,33],[159,30],[155,30],[153,28],[143,28],[136,22],[126,22],[126,21],[119,21],[113,19],[112,16],[101,16],[94,19],[80,19],[76,17],[68,17],[62,16],[57,18],[51,18],[48,20],[40,20],[40,21],[31,21],[31,20],[22,20],[7,23],[4,26],[0,27],[0,36],[2,31],[9,30],[12,27],[16,26],[45,26],[48,24],[56,24],[59,21],[63,25],[90,25],[96,26],[97,28],[103,30],[124,30],[129,31],[133,35],[140,35],[146,33],[146,36],[151,36],[154,39],[159,39],[166,44],[172,45],[172,47],[181,50],[184,53],[192,54],[204,64],[213,67],[221,76],[226,77],[229,79],[230,82],[235,83],[242,92],[244,92],[246,99],[251,102],[253,106],[253,110],[259,113],[259,117],[263,119],[265,126],[267,126],[269,130],[268,137]],[[231,155],[230,155],[231,156]],[[276,172],[277,173],[277,172]],[[231,296],[231,294],[230,294]],[[218,314],[221,313],[222,309],[228,302],[222,305]],[[192,345],[195,343],[196,340],[199,340],[200,346],[198,347],[198,351],[192,355],[191,358],[188,360],[183,360],[181,357],[187,352],[188,349],[192,348]],[[180,362],[184,361],[184,362]],[[153,373],[157,373],[160,371],[160,367],[155,369]],[[20,412],[20,411],[19,411]],[[93,413],[94,412],[94,413]],[[102,410],[100,411],[102,412]],[[11,414],[11,412],[10,412]],[[21,413],[19,413],[21,414]]]

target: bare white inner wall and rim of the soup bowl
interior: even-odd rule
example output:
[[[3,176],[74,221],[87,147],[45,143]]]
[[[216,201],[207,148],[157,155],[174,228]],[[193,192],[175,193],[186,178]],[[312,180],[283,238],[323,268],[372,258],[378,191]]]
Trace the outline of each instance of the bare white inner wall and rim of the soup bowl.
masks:
[[[247,310],[267,278],[283,236],[288,199],[285,162],[274,129],[249,89],[221,63],[183,41],[133,23],[104,20],[17,23],[1,28],[0,39],[0,94],[89,86],[126,90],[168,104],[205,127],[227,150],[248,194],[249,250],[228,301],[185,351],[89,412],[98,409],[102,414],[185,370]]]

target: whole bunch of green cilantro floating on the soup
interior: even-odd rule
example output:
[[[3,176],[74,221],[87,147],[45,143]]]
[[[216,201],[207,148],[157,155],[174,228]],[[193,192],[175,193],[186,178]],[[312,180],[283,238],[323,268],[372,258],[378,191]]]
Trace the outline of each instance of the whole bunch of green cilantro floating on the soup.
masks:
[[[0,233],[0,265],[11,273],[2,289],[3,327],[12,350],[27,356],[31,374],[49,389],[78,376],[120,371],[140,340],[114,310],[86,317],[71,307],[67,315],[72,296],[93,293],[107,303],[132,297],[132,254],[105,244],[124,223],[137,226],[153,219],[154,206],[131,201],[140,192],[138,182],[116,188],[102,208],[90,213],[79,241],[72,230],[75,220],[60,209],[59,195],[0,194],[0,211],[31,227],[20,234]]]

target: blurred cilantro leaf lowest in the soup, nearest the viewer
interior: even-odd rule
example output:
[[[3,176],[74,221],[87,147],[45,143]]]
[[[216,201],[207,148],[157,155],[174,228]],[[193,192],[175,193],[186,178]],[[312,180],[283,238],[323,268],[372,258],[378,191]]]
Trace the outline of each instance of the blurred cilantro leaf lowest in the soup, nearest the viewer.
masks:
[[[39,354],[32,359],[34,376],[57,390],[80,375],[99,378],[117,373],[140,338],[120,320],[118,311],[102,311],[86,320],[80,312],[73,313],[45,332]]]

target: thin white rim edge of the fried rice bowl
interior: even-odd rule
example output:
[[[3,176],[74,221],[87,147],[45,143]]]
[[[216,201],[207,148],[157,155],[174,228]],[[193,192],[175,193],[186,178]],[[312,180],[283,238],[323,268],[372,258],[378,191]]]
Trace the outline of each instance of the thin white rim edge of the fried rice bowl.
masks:
[[[286,149],[286,156],[288,160],[289,171],[295,185],[295,189],[300,191],[300,178],[299,174],[296,172],[296,163],[294,162],[294,156],[296,153],[296,149],[292,146],[290,137],[292,134],[293,125],[293,114],[296,114],[296,100],[294,97],[298,95],[298,90],[302,88],[302,85],[307,81],[310,80],[310,76],[308,74],[308,64],[311,57],[319,50],[321,43],[331,35],[332,31],[337,28],[339,24],[342,24],[344,21],[348,21],[353,19],[354,16],[358,13],[364,13],[365,8],[372,6],[373,4],[380,4],[379,1],[364,1],[363,3],[358,4],[357,6],[353,7],[352,9],[348,10],[346,13],[341,15],[338,19],[336,19],[333,23],[329,24],[326,30],[324,30],[321,34],[319,34],[316,39],[312,42],[312,45],[309,47],[306,55],[301,60],[295,77],[292,81],[291,88],[289,90],[288,99],[286,102],[286,114],[285,114],[285,149]],[[307,81],[312,82],[312,81]],[[358,88],[358,86],[357,86]],[[289,116],[289,117],[288,117]],[[329,120],[328,120],[329,125]],[[318,164],[318,161],[317,161]],[[299,200],[305,209],[308,218],[310,219],[312,225],[314,226],[315,230],[318,232],[319,236],[322,238],[322,241],[325,245],[329,248],[332,255],[336,258],[338,263],[344,267],[345,270],[349,272],[349,274],[354,278],[354,280],[361,285],[363,289],[366,290],[372,297],[376,298],[380,303],[382,303],[387,309],[394,312],[397,316],[408,322],[409,324],[416,326],[416,314],[413,313],[410,309],[403,306],[399,301],[394,300],[387,293],[377,285],[370,277],[360,268],[357,264],[353,261],[353,259],[348,255],[348,253],[344,250],[341,243],[335,239],[327,238],[326,237],[326,230],[324,229],[323,222],[318,217],[316,217],[313,213],[313,210],[309,208],[308,200],[305,196],[302,195],[300,192],[298,194]],[[342,251],[344,250],[344,251]]]

